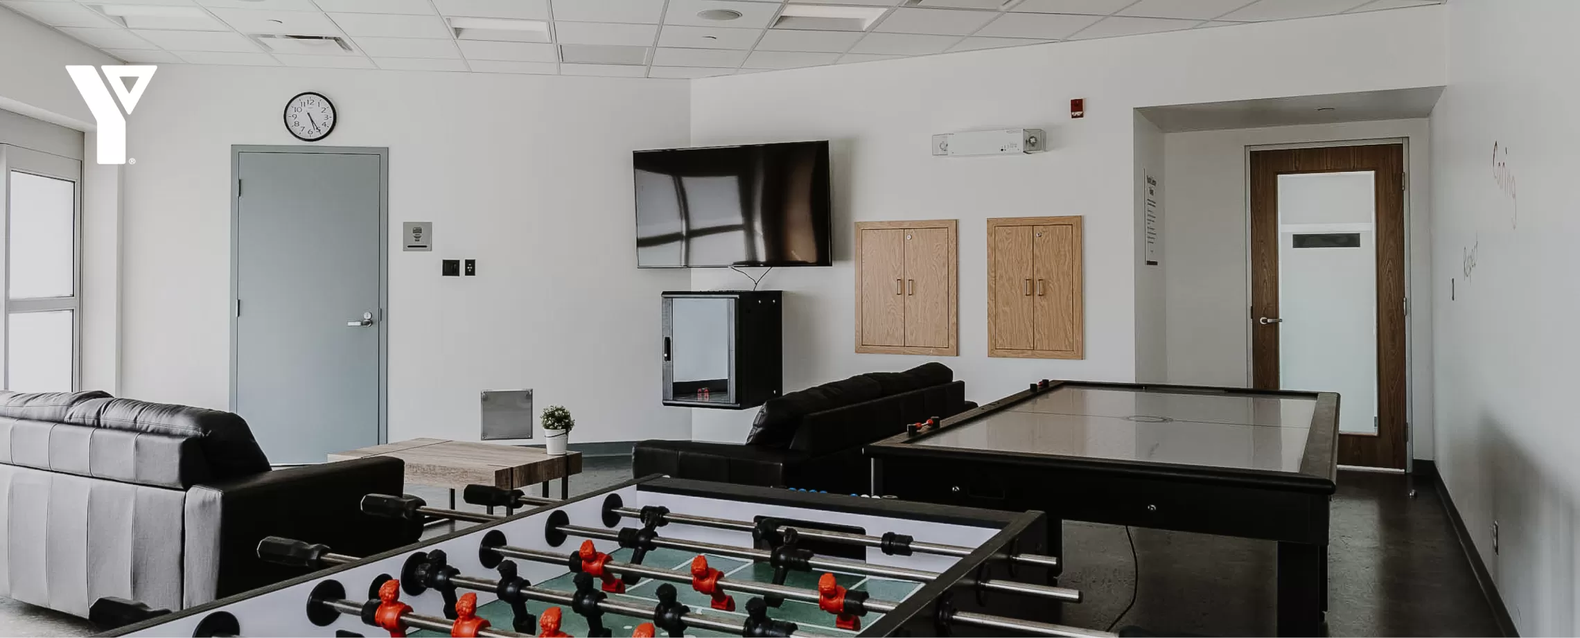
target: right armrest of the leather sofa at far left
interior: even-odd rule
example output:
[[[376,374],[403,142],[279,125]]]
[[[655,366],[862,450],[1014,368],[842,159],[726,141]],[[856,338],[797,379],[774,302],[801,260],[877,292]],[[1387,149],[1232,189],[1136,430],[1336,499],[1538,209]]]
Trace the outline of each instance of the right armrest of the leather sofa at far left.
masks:
[[[400,494],[404,461],[368,456],[286,467],[186,491],[183,606],[305,573],[258,559],[267,535],[371,556],[417,542],[422,529],[362,513],[370,493]]]

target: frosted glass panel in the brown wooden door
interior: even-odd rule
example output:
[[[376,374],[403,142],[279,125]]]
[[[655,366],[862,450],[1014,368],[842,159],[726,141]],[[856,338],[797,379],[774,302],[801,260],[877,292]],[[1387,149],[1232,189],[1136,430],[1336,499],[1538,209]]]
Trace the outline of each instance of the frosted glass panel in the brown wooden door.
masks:
[[[1337,392],[1338,430],[1376,433],[1376,175],[1278,175],[1278,376]]]

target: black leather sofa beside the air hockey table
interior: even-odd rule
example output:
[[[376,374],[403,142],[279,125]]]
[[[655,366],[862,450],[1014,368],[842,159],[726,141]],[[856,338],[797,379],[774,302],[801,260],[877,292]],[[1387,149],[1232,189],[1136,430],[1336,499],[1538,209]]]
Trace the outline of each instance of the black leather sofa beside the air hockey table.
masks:
[[[863,445],[899,434],[908,423],[970,407],[965,382],[954,381],[943,363],[856,374],[768,400],[746,444],[638,442],[632,475],[864,494],[871,472]]]

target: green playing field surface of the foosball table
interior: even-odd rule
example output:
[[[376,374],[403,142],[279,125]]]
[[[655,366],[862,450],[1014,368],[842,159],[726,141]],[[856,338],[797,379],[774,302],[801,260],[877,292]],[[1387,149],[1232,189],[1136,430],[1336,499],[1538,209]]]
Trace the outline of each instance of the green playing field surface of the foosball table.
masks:
[[[667,567],[667,569],[676,569],[676,570],[690,573],[690,562],[692,562],[692,559],[697,554],[694,554],[694,553],[684,553],[684,551],[675,551],[675,550],[654,550],[654,551],[649,551],[648,556],[646,556],[646,559],[641,561],[641,562],[646,564],[646,565],[653,565],[653,567]],[[629,561],[630,559],[630,550],[615,551],[613,553],[613,559],[615,561],[621,561],[621,562]],[[768,564],[762,564],[762,562],[758,562],[758,564],[749,564],[749,562],[746,562],[743,559],[733,559],[733,557],[724,557],[724,556],[708,554],[708,565],[713,567],[713,569],[716,569],[716,570],[724,572],[725,578],[730,578],[730,580],[752,580],[752,581],[768,583],[768,581],[773,580],[773,575],[774,575],[773,567],[769,567]],[[785,584],[792,586],[792,587],[817,589],[817,580],[822,575],[823,575],[823,572],[790,572],[790,576],[785,578]],[[894,580],[883,580],[883,578],[867,578],[867,576],[850,575],[850,573],[836,573],[834,576],[839,580],[839,584],[845,586],[847,589],[866,591],[874,599],[880,599],[880,600],[902,600],[915,587],[920,586],[918,583],[894,581]],[[572,592],[572,591],[575,591],[575,584],[572,583],[572,578],[574,578],[574,575],[567,572],[564,575],[559,575],[558,578],[547,580],[547,581],[542,581],[542,583],[532,583],[532,584],[539,586],[539,587],[548,587],[548,589],[558,589],[558,591],[564,591],[564,592]],[[613,600],[619,600],[619,602],[623,602],[626,605],[634,605],[634,606],[641,606],[641,608],[651,608],[651,606],[657,605],[657,599],[654,597],[654,589],[657,589],[664,583],[668,583],[668,581],[656,581],[656,580],[651,580],[651,578],[643,578],[640,583],[627,587],[626,594],[610,594],[610,597]],[[700,614],[719,617],[719,619],[724,619],[724,621],[728,621],[728,622],[738,622],[738,624],[744,624],[746,622],[746,602],[750,599],[749,594],[733,594],[732,592],[732,595],[735,597],[735,610],[736,611],[719,611],[719,610],[714,610],[714,608],[709,606],[709,600],[711,599],[708,595],[698,594],[697,591],[694,591],[690,587],[689,583],[670,583],[670,584],[675,584],[675,589],[679,592],[679,602],[683,605],[692,608],[694,613],[700,613]],[[728,592],[728,589],[725,589],[725,591]],[[528,602],[526,603],[526,608],[531,610],[534,616],[542,614],[544,610],[547,610],[548,606],[551,606],[551,605],[540,603],[540,602]],[[420,610],[420,611],[430,611],[431,613],[431,610]],[[477,610],[477,614],[482,616],[482,617],[487,617],[488,622],[493,627],[504,629],[504,630],[510,629],[510,622],[512,622],[510,605],[507,605],[504,602],[495,600],[495,602],[490,602],[487,605],[482,605]],[[818,635],[830,635],[830,636],[848,636],[848,635],[852,635],[852,632],[834,629],[834,616],[833,614],[830,614],[830,613],[826,613],[823,610],[818,610],[815,603],[807,603],[807,602],[801,602],[801,600],[785,600],[779,608],[768,608],[768,617],[776,619],[776,621],[790,621],[790,622],[795,622],[803,630],[815,632]],[[882,617],[882,614],[869,613],[866,617],[861,619],[861,624],[864,627],[864,625],[867,625],[869,622],[872,622],[872,621],[875,621],[878,617]],[[604,625],[608,627],[608,629],[611,629],[616,636],[629,636],[630,632],[638,624],[641,624],[641,622],[651,622],[651,619],[648,619],[648,617],[637,619],[637,617],[630,617],[630,616],[604,614]],[[561,610],[561,625],[559,625],[559,630],[566,632],[566,633],[569,633],[572,636],[586,636],[588,625],[586,625],[586,621],[580,614],[570,611],[569,608],[564,608],[564,610]],[[534,635],[537,633],[536,627],[534,627],[532,633]],[[664,635],[664,632],[660,630],[659,635]],[[687,629],[686,635],[687,636],[728,636],[728,635],[739,635],[739,633],[720,633],[720,632],[711,632],[711,630],[705,630],[705,629]],[[411,636],[442,636],[442,633],[436,633],[436,632],[414,632],[414,633],[411,633]]]

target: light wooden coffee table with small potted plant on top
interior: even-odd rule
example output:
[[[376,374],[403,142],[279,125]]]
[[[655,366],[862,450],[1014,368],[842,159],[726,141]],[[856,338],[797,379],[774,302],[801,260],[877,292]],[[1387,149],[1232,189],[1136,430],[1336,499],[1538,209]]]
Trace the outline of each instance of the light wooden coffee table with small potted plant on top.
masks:
[[[411,439],[362,447],[332,453],[329,460],[346,461],[362,456],[395,456],[406,461],[406,482],[449,488],[452,510],[455,509],[455,490],[474,483],[493,485],[501,490],[542,483],[544,496],[548,496],[548,482],[559,478],[559,497],[564,499],[570,493],[570,475],[581,472],[580,452],[550,456],[539,447],[444,439]]]

